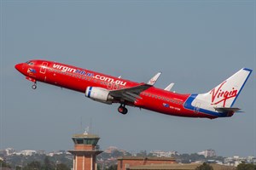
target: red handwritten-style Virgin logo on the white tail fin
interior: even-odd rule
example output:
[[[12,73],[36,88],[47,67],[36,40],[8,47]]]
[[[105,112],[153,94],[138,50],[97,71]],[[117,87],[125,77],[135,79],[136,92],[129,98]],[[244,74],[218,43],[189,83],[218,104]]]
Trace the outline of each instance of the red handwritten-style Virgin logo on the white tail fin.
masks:
[[[224,81],[220,84],[218,89],[213,88],[211,93],[212,94],[212,105],[218,105],[219,103],[223,102],[223,107],[226,105],[227,99],[235,98],[237,95],[237,89],[232,88],[232,90],[224,91],[222,87],[224,86],[224,83],[227,81]]]

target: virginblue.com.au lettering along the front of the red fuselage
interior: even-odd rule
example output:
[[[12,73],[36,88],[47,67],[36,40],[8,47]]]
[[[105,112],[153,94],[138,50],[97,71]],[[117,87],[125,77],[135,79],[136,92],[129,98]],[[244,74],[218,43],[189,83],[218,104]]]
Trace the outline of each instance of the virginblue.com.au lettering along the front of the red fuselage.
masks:
[[[115,83],[115,84],[118,84],[118,85],[121,85],[121,86],[126,85],[126,82],[123,82],[123,81],[120,81],[120,80],[114,80],[113,78],[104,77],[104,76],[101,76],[101,75],[94,76],[94,73],[87,72],[87,71],[84,71],[84,70],[74,69],[74,68],[71,68],[71,67],[68,67],[68,66],[65,66],[65,65],[53,64],[53,68],[59,69],[63,72],[77,73],[77,74],[80,74],[80,75],[84,75],[85,77],[93,77],[93,78],[96,78],[96,79],[104,81],[104,82],[111,82],[111,83]]]

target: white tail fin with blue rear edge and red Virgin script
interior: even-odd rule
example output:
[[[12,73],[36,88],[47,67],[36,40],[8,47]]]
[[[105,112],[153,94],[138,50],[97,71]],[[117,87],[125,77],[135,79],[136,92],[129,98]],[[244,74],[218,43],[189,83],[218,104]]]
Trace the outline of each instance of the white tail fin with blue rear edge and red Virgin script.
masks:
[[[252,70],[247,68],[237,71],[233,76],[220,83],[216,88],[212,88],[212,90],[206,94],[201,94],[201,99],[209,102],[216,108],[232,107],[251,73]]]

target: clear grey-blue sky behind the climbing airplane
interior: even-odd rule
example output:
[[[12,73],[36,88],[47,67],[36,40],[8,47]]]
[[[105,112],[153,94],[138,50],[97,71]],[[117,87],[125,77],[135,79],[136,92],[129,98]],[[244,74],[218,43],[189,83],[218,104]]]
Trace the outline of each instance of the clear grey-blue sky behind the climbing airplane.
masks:
[[[0,150],[71,150],[72,136],[98,134],[132,153],[216,150],[256,156],[255,1],[1,0]],[[104,105],[84,94],[32,82],[15,70],[29,59],[76,65],[135,82],[158,71],[157,88],[205,93],[242,67],[253,69],[236,99],[242,109],[214,120]]]

